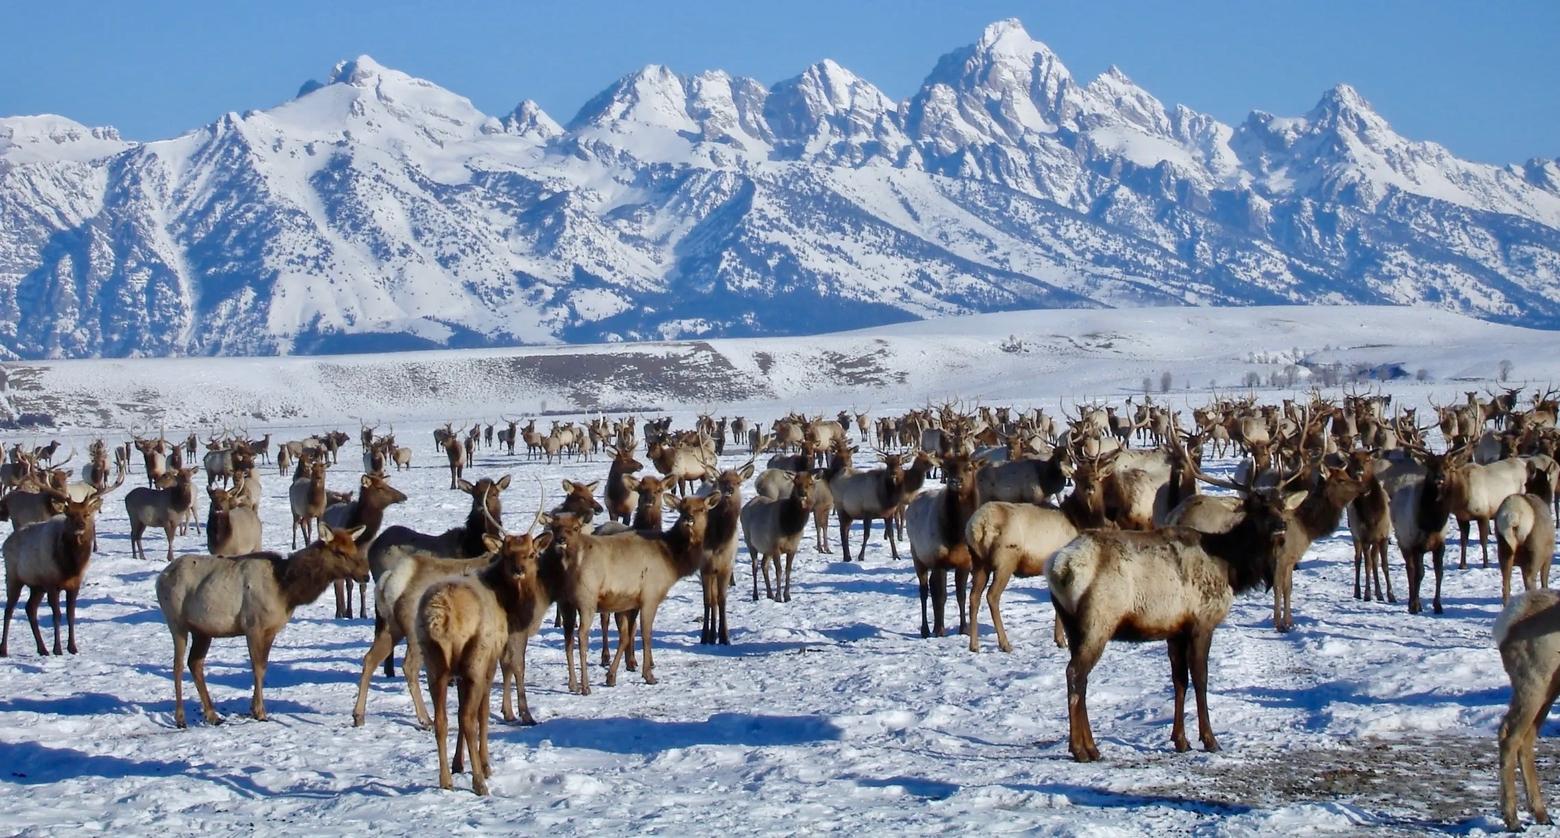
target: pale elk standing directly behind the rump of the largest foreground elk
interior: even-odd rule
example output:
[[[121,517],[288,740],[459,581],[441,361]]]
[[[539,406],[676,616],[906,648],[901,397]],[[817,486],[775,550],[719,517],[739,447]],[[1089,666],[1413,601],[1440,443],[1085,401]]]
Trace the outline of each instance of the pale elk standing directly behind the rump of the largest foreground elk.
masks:
[[[1067,546],[1084,529],[1114,526],[1104,517],[1104,478],[1111,459],[1081,460],[1073,471],[1073,490],[1059,509],[1033,504],[994,501],[981,504],[964,527],[970,549],[970,651],[980,651],[980,598],[986,593],[991,624],[997,630],[997,648],[1012,651],[1008,630],[1002,624],[1002,593],[1008,582],[1031,579],[1045,573],[1045,565],[1058,549]],[[977,478],[978,479],[978,478]],[[991,590],[986,590],[986,581]],[[1061,621],[1053,624],[1058,646],[1065,644]]]

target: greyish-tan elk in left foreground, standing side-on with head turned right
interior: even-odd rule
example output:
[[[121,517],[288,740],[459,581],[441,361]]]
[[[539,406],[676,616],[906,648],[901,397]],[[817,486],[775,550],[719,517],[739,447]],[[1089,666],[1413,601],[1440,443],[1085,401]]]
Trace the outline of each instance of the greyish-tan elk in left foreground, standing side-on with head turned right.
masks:
[[[215,637],[243,635],[254,669],[250,713],[265,721],[265,666],[292,612],[342,576],[368,576],[356,531],[320,524],[320,540],[293,552],[179,556],[158,574],[158,605],[173,634],[173,724],[184,727],[184,651],[206,724],[222,724],[206,691],[206,652]]]

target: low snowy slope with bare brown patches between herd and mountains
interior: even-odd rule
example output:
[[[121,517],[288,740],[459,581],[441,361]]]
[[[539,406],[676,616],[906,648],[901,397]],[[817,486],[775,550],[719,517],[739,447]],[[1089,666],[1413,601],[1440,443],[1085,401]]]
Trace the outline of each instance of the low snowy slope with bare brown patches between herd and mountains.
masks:
[[[1435,309],[1384,306],[1026,311],[947,317],[807,339],[456,350],[328,357],[64,360],[6,365],[6,418],[64,428],[491,420],[538,410],[785,412],[799,399],[920,406],[1122,396],[1168,371],[1178,393],[1236,389],[1289,364],[1396,368],[1416,393],[1513,362],[1513,381],[1560,381],[1554,334]],[[1298,370],[1304,387],[1309,368]],[[371,382],[365,385],[365,382]],[[1415,396],[1420,401],[1420,396]]]

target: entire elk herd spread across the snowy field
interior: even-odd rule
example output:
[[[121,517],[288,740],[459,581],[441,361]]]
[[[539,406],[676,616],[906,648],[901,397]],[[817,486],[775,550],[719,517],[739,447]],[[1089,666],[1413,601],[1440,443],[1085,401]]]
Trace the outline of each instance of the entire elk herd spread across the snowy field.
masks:
[[[1429,557],[1429,605],[1441,613],[1446,531],[1455,521],[1459,568],[1468,566],[1474,532],[1487,566],[1493,537],[1501,599],[1510,601],[1494,635],[1513,684],[1499,730],[1501,807],[1516,827],[1518,772],[1535,816],[1546,821],[1532,754],[1560,688],[1560,601],[1546,590],[1560,512],[1560,393],[1465,395],[1460,403],[1432,401],[1423,417],[1418,406],[1395,404],[1388,395],[1310,392],[1279,404],[1215,398],[1186,410],[1142,396],[1123,406],[1058,404],[1055,414],[944,404],[875,418],[855,409],[769,423],[700,415],[682,431],[669,418],[636,417],[551,421],[546,429],[509,417],[491,424],[445,423],[434,429],[435,451],[448,463],[449,490],[463,493],[470,507],[443,532],[387,526],[393,507],[409,501],[392,482],[413,457],[393,426],[381,435],[378,424],[360,423],[362,471],[351,492],[328,485],[351,442],[340,431],[273,446],[271,434],[250,439],[225,429],[206,437],[203,453],[195,434],[172,442],[161,429],[136,429],[120,445],[94,442],[80,471],[67,468],[75,451],[59,459],[58,442],[11,445],[0,465],[0,520],[14,527],[3,546],[0,655],[8,654],[23,588],[37,652],[48,654],[37,621],[44,598],[55,616],[53,654],[76,652],[75,607],[97,545],[97,513],[125,484],[139,451],[145,485],[125,492],[123,504],[136,557],[148,557],[148,531],[162,534],[164,545],[156,546],[165,548],[167,565],[156,599],[173,635],[179,727],[186,663],[206,721],[218,721],[204,679],[212,638],[245,637],[254,674],[251,710],[265,718],[267,659],[293,610],[334,588],[335,616],[353,618],[356,587],[356,616],[371,613],[374,634],[362,659],[353,723],[365,724],[370,680],[381,665],[393,674],[393,651],[404,640],[402,676],[418,723],[435,729],[440,785],[452,783],[445,693],[454,682],[452,766],[468,765],[473,790],[482,794],[491,772],[491,687],[502,676],[505,719],[535,723],[526,699],[526,648],[543,624],[562,626],[571,691],[591,691],[590,634],[597,616],[605,684],[615,685],[622,668],[655,684],[657,613],[679,579],[699,579],[699,641],[730,644],[729,593],[789,602],[808,535],[819,554],[835,554],[831,515],[844,562],[864,559],[874,529],[892,559],[908,549],[922,637],[948,629],[952,573],[958,632],[972,652],[981,648],[983,604],[997,648],[1012,651],[1003,593],[1014,579],[1044,577],[1053,640],[1067,649],[1073,758],[1100,758],[1089,676],[1111,640],[1167,643],[1172,744],[1189,747],[1190,685],[1200,743],[1217,751],[1209,648],[1236,595],[1271,588],[1271,626],[1292,630],[1303,607],[1293,587],[1301,560],[1317,540],[1346,524],[1356,599],[1396,602],[1401,591],[1407,610],[1420,613]],[[727,448],[739,449],[746,462],[722,468],[721,457],[730,462]],[[510,531],[502,504],[510,474],[470,474],[484,449],[541,460],[538,468],[601,457],[604,476],[543,484],[543,498],[554,502],[543,501]],[[1203,471],[1204,456],[1236,456],[1239,463],[1231,476],[1215,478]],[[284,484],[290,554],[264,551],[262,463],[290,481]],[[198,470],[206,474],[206,551],[175,557],[175,540],[187,527],[201,531]],[[1398,587],[1388,556],[1393,540],[1402,559]],[[739,546],[749,559],[746,585],[735,579]],[[1516,596],[1513,570],[1524,588]],[[421,696],[423,671],[432,713]]]

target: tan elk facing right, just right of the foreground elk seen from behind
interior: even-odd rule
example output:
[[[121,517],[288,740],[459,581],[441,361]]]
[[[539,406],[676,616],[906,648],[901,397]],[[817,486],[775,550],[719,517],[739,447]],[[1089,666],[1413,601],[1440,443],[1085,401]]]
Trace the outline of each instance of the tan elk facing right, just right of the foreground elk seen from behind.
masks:
[[[563,616],[563,651],[569,662],[569,690],[590,694],[590,669],[585,663],[585,637],[597,610],[626,615],[640,612],[640,632],[644,652],[641,676],[646,684],[655,684],[655,659],[651,652],[651,632],[655,612],[666,591],[683,576],[704,563],[704,531],[708,517],[707,498],[668,498],[679,510],[677,523],[666,532],[633,531],[618,535],[588,535],[583,521],[574,515],[558,515],[551,521],[552,540],[563,556],[565,582],[558,602],[568,604]],[[574,632],[579,618],[580,632]],[[619,618],[622,637],[618,652],[607,669],[607,685],[618,682],[618,663],[633,644],[626,630],[627,620]],[[574,654],[579,655],[579,680],[574,674]]]

